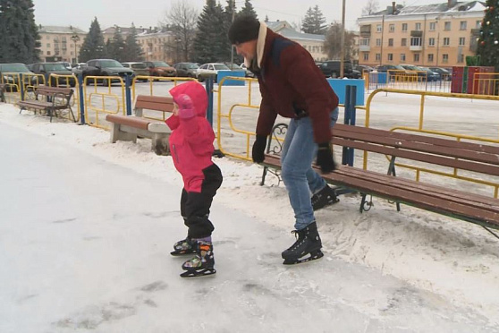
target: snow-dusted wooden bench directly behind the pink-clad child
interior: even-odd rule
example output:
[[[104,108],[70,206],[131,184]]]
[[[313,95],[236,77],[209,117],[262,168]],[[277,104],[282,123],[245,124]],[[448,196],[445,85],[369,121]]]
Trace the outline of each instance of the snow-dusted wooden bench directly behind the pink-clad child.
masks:
[[[106,115],[111,126],[111,143],[118,140],[137,142],[137,137],[149,138],[156,155],[169,155],[168,138],[171,130],[164,121],[144,116],[144,110],[173,112],[173,98],[139,95],[135,115]],[[165,119],[165,116],[162,117]]]

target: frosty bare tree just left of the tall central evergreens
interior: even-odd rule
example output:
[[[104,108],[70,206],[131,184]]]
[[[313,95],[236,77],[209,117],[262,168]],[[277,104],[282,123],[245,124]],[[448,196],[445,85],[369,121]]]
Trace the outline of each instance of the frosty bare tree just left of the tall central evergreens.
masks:
[[[198,11],[188,0],[179,0],[165,12],[164,20],[159,23],[163,30],[173,32],[173,39],[166,42],[165,47],[172,51],[177,63],[190,60],[198,16]]]

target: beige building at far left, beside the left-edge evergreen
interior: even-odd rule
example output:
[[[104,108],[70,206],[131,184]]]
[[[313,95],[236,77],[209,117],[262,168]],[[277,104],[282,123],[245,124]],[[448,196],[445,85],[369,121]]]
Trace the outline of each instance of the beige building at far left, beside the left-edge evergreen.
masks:
[[[43,62],[64,61],[77,63],[80,47],[87,32],[78,28],[38,26],[40,35],[40,60]]]

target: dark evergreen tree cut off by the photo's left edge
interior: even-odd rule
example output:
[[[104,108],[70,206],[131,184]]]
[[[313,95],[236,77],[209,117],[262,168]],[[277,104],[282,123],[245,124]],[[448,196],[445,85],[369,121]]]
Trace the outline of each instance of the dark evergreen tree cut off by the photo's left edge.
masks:
[[[40,47],[32,0],[0,0],[0,63],[31,64]]]

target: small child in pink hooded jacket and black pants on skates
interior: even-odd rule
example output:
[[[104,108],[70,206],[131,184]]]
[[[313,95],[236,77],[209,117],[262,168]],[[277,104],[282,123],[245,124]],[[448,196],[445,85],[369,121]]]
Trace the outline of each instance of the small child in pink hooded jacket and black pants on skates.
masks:
[[[215,133],[206,118],[207,91],[198,82],[170,90],[176,107],[165,123],[172,129],[169,145],[173,164],[183,178],[181,214],[187,237],[173,245],[172,255],[195,253],[183,263],[181,277],[215,274],[209,209],[222,184],[220,168],[212,161]]]

